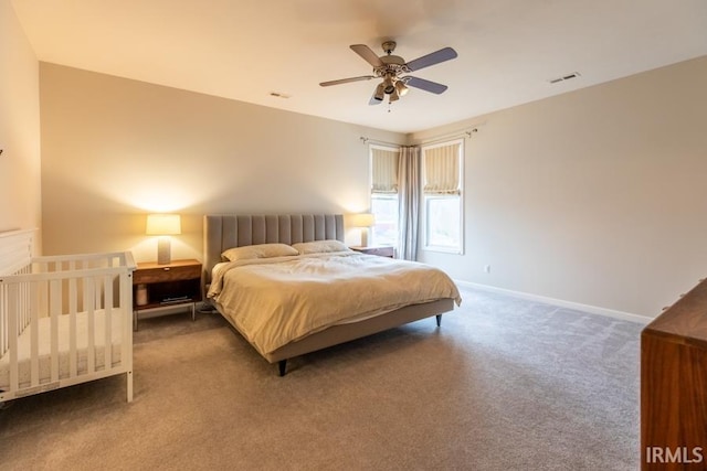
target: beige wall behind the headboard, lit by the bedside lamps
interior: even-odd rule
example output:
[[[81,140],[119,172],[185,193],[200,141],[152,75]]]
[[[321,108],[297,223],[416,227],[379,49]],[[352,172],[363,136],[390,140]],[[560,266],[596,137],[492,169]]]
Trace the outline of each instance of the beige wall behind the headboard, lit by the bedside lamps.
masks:
[[[205,213],[365,211],[359,137],[405,138],[46,63],[40,77],[46,254],[152,260],[150,212],[182,214],[172,257],[200,259]]]

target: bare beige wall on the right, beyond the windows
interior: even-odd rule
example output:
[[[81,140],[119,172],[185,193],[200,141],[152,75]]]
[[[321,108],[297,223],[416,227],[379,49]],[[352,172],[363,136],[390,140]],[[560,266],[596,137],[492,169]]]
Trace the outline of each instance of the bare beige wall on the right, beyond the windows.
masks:
[[[466,140],[453,277],[654,317],[707,276],[707,57],[414,135]],[[484,266],[490,265],[490,272]]]

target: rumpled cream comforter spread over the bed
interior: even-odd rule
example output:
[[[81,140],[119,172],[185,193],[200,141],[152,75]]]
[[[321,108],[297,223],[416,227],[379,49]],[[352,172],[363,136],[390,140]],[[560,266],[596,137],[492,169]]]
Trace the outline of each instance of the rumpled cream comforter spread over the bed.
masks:
[[[442,270],[355,251],[222,263],[208,293],[261,352],[330,325],[441,298],[462,302]]]

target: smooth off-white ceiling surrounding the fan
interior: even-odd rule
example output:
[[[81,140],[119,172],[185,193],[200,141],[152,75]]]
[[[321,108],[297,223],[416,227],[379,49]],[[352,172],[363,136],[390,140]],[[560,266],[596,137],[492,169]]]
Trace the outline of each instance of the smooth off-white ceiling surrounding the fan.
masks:
[[[707,55],[707,0],[12,0],[40,61],[413,132]],[[369,106],[350,44],[449,85]],[[569,73],[581,76],[551,85]],[[676,86],[679,86],[677,84]],[[271,96],[271,93],[289,98]]]

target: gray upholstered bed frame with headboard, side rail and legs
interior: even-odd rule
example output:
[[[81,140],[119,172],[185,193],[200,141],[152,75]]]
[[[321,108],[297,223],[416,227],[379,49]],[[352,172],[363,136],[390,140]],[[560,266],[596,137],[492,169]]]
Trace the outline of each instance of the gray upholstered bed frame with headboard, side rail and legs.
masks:
[[[325,239],[344,242],[344,216],[341,214],[205,215],[203,217],[204,271],[202,277],[204,295],[211,281],[211,270],[221,261],[221,253],[226,248],[270,243],[292,245]],[[219,306],[217,309],[220,309]],[[279,375],[284,376],[287,370],[287,358],[432,315],[436,317],[437,325],[440,325],[442,313],[452,309],[454,309],[452,299],[411,304],[360,322],[334,325],[296,342],[291,342],[264,355],[264,357],[270,363],[277,362]],[[229,319],[226,315],[224,318]],[[232,322],[231,324],[233,325]],[[233,328],[238,331],[235,325]]]

